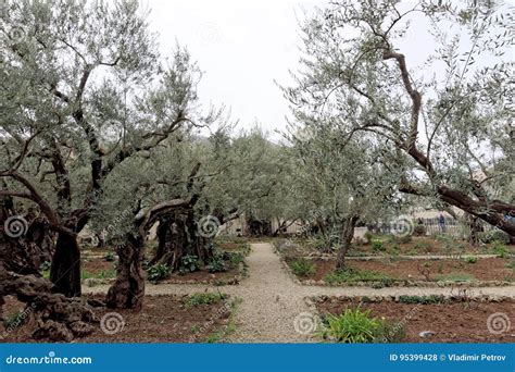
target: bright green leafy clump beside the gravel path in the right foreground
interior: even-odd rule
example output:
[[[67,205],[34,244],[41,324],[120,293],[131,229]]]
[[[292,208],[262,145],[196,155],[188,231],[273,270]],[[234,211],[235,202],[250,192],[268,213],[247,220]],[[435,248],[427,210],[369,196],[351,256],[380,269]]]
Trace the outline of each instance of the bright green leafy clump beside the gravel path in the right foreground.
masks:
[[[391,325],[370,315],[370,310],[346,309],[341,315],[328,314],[324,319],[321,336],[337,343],[391,343],[404,338],[402,324]]]

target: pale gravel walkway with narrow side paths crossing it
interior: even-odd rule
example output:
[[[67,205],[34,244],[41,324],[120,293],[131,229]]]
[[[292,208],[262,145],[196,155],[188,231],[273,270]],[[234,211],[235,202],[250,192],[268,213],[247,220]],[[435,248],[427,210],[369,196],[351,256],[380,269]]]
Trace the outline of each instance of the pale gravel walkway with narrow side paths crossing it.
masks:
[[[326,287],[305,286],[294,281],[267,243],[253,244],[247,258],[249,277],[239,285],[147,284],[147,295],[185,295],[199,292],[222,292],[242,301],[236,312],[235,343],[306,343],[313,328],[315,309],[306,297],[326,296],[400,296],[457,295],[456,288],[439,287]],[[84,293],[106,293],[108,285],[84,287]],[[472,296],[515,297],[515,286],[476,287]]]

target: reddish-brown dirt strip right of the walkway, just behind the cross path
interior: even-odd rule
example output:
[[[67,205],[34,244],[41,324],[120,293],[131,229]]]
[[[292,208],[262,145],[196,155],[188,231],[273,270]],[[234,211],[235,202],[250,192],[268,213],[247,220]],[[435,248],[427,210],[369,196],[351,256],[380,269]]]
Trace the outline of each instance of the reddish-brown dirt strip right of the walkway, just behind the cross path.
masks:
[[[291,262],[291,261],[290,261]],[[335,260],[314,259],[316,272],[306,280],[321,281],[335,270]],[[513,281],[514,269],[506,268],[506,259],[480,258],[476,263],[464,260],[348,260],[349,268],[373,270],[387,274],[391,278],[425,281],[420,268],[427,270],[429,281],[443,280],[445,275],[472,275],[478,281]]]

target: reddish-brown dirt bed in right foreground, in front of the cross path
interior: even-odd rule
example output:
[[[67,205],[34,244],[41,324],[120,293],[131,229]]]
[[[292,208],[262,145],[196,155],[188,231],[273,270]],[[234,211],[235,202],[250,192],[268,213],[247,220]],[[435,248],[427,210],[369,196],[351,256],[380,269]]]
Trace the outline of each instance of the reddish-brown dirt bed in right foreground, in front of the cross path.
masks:
[[[357,299],[327,298],[316,303],[322,315],[340,314],[346,308],[370,309],[370,314],[391,322],[405,324],[406,343],[515,343],[515,300],[503,302],[454,302],[412,305],[393,301],[365,302]],[[489,332],[487,322],[491,314],[504,313],[511,328],[501,334]],[[423,338],[419,333],[436,334]]]

